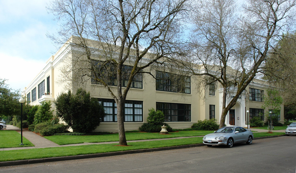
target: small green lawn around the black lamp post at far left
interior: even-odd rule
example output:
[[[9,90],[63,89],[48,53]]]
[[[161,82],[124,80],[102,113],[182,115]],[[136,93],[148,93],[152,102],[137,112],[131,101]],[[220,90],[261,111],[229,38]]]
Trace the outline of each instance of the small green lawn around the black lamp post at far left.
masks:
[[[20,145],[20,134],[15,130],[0,130],[0,139],[2,139],[0,142],[0,148],[34,146],[30,141],[28,141],[24,137],[22,137],[22,143],[24,145]]]

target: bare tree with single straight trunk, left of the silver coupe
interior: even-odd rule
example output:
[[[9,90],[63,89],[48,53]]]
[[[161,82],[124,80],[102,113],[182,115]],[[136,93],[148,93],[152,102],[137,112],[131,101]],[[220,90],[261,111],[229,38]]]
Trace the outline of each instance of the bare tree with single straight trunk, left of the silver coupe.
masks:
[[[65,74],[103,86],[115,100],[119,145],[127,145],[123,110],[130,87],[152,74],[150,66],[182,54],[190,8],[189,0],[55,0],[48,8],[61,21],[52,39],[76,47]]]

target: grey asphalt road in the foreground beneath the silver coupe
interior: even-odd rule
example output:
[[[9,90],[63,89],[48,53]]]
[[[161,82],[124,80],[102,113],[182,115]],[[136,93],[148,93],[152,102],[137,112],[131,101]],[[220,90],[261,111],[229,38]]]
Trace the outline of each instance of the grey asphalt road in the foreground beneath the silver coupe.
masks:
[[[185,139],[184,139],[185,140]],[[296,136],[253,140],[252,145],[194,147],[72,161],[1,167],[0,173],[219,172],[295,173]]]

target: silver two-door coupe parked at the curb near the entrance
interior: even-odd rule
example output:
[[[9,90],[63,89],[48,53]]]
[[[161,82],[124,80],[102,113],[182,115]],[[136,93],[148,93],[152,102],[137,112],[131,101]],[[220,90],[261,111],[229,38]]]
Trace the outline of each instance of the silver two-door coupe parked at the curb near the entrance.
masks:
[[[202,138],[204,144],[208,147],[212,145],[226,145],[231,148],[235,143],[246,142],[248,145],[252,144],[254,136],[250,129],[245,129],[238,126],[222,127],[215,131],[205,135]]]

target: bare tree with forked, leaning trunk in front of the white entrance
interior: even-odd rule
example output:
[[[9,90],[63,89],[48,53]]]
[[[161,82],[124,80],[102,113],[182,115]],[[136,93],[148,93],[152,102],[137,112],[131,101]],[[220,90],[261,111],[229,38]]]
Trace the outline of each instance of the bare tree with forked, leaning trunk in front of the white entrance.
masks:
[[[205,0],[194,16],[195,49],[183,63],[204,85],[223,89],[220,126],[250,82],[263,72],[263,63],[281,32],[292,26],[294,0],[248,0],[238,16],[234,0]],[[200,65],[194,65],[200,64]],[[226,102],[227,94],[235,92]]]

